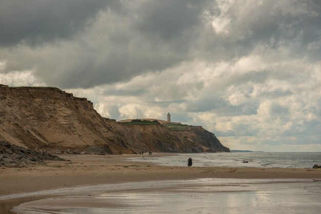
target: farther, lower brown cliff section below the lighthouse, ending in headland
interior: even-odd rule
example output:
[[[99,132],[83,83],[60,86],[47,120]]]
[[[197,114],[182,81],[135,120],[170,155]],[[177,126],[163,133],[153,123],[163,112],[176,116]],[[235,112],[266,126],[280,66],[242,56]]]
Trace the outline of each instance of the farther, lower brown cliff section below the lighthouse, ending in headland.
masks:
[[[229,152],[213,133],[202,127],[189,127],[186,131],[170,131],[161,124],[122,125],[121,136],[126,142],[135,142],[142,151],[162,152]]]

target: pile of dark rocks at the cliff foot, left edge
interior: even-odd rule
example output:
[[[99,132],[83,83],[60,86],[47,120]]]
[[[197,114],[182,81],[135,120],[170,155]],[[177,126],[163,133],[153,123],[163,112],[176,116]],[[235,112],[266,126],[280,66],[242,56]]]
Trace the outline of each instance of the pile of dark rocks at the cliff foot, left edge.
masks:
[[[0,166],[21,167],[27,164],[45,164],[45,160],[63,161],[65,159],[0,141]]]

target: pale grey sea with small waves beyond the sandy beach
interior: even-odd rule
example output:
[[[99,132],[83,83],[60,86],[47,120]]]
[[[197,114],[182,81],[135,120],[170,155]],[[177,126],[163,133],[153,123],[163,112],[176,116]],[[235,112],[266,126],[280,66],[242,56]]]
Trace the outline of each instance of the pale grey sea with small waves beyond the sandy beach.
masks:
[[[130,158],[129,161],[186,166],[189,157],[193,160],[193,166],[312,168],[314,164],[321,165],[321,153],[178,153],[173,156],[157,156],[154,153],[152,156]]]

